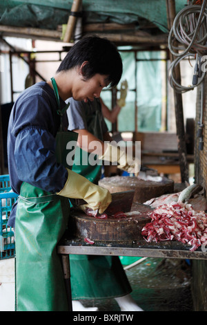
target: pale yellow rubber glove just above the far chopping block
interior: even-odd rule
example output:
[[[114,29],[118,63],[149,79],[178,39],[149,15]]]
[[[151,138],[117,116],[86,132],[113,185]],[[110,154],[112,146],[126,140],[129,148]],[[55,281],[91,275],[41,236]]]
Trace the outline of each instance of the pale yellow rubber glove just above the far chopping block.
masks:
[[[117,162],[119,169],[128,171],[128,173],[133,173],[135,176],[138,175],[141,162],[139,159],[133,158],[131,155],[126,154],[125,150],[121,150],[119,147],[115,147],[107,143],[106,150],[102,156],[99,156],[101,160],[107,160],[111,163]]]

